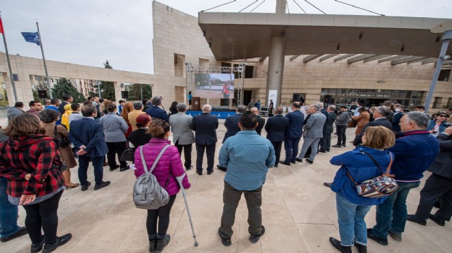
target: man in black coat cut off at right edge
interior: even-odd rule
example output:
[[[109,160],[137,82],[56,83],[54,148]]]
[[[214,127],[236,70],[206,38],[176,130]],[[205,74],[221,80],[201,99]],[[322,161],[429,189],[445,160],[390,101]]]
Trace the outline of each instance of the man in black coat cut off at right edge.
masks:
[[[407,220],[425,225],[429,218],[444,226],[452,216],[452,127],[445,129],[436,139],[440,142],[440,153],[428,169],[432,174],[420,191],[416,214],[408,215]],[[432,215],[430,212],[437,199],[440,200],[440,209]]]

